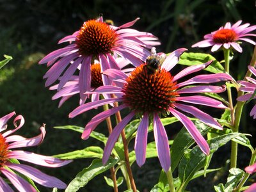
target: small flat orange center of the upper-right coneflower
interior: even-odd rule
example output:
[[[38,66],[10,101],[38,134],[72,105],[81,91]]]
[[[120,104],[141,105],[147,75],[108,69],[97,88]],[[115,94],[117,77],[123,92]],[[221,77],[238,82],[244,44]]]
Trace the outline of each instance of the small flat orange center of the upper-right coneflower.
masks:
[[[237,39],[237,34],[232,29],[220,29],[213,35],[213,41],[217,44],[225,44],[234,42]]]

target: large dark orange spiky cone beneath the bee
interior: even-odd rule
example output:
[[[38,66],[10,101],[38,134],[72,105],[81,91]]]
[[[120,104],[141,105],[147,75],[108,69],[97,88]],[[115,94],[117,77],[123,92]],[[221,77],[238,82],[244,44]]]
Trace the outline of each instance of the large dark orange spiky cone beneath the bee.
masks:
[[[176,82],[172,79],[173,76],[164,68],[158,68],[152,74],[147,64],[142,64],[126,79],[127,84],[122,90],[124,103],[138,113],[166,114],[175,98],[179,96],[176,92]]]

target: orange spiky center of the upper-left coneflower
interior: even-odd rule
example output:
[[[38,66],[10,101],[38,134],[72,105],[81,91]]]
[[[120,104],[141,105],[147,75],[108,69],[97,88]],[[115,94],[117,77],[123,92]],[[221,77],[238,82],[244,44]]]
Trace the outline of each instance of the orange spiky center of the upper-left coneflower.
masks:
[[[111,52],[116,38],[115,29],[111,29],[105,22],[88,20],[76,36],[76,45],[80,54],[97,56]]]

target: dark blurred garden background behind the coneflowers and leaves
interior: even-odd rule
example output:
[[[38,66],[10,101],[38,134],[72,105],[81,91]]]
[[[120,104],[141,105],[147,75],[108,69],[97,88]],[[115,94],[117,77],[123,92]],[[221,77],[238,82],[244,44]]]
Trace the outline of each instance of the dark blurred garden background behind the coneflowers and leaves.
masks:
[[[186,47],[190,52],[210,53],[210,47],[192,49],[191,45],[227,21],[234,23],[242,19],[243,22],[256,24],[254,0],[0,0],[0,10],[0,60],[4,59],[3,54],[13,56],[13,60],[0,70],[0,116],[11,111],[22,114],[26,124],[20,130],[20,134],[28,137],[38,134],[38,127],[45,123],[47,135],[44,143],[40,147],[28,150],[48,156],[82,149],[89,145],[100,145],[93,139],[82,141],[81,135],[76,132],[52,128],[67,124],[83,127],[97,111],[69,119],[68,113],[76,108],[78,98],[68,100],[58,109],[58,100],[51,100],[54,92],[44,87],[42,77],[47,67],[38,65],[38,61],[45,54],[63,47],[64,45],[57,44],[58,40],[77,31],[85,20],[94,19],[99,13],[103,13],[104,19],[111,19],[116,26],[120,26],[140,17],[132,28],[156,35],[162,43],[157,47],[157,52],[172,52],[179,47]],[[236,79],[243,78],[253,51],[251,44],[244,42],[242,47],[243,53],[236,52],[230,66],[230,71]],[[215,52],[213,56],[219,61],[223,60],[222,52]],[[253,102],[250,102],[244,108],[241,132],[249,132],[255,136],[255,123],[246,112],[252,109],[252,106]],[[11,123],[9,127],[12,127]],[[104,124],[102,127],[103,129],[98,127],[96,131],[107,133]],[[181,125],[177,124],[177,127],[180,129]],[[175,132],[168,129],[168,135],[172,139]],[[150,138],[153,138],[152,134],[149,140]],[[255,146],[255,141],[252,140],[252,143]],[[223,152],[227,154],[229,148],[223,149]],[[244,155],[239,157],[238,164],[241,166],[248,164],[250,154],[248,156],[246,153],[247,149]],[[218,166],[224,166],[227,158],[228,156],[217,156]],[[80,159],[63,168],[45,168],[44,172],[68,183],[90,162],[91,159]],[[148,159],[140,169],[136,165],[133,166],[134,177],[140,191],[148,191],[157,183],[159,168],[158,159]],[[90,181],[81,191],[111,191],[104,183],[103,176],[97,177],[99,179]],[[215,182],[218,184],[220,181]],[[200,179],[194,183],[189,190],[209,191],[208,185],[202,185]],[[125,184],[122,186],[121,191]],[[42,191],[47,189],[42,188]]]

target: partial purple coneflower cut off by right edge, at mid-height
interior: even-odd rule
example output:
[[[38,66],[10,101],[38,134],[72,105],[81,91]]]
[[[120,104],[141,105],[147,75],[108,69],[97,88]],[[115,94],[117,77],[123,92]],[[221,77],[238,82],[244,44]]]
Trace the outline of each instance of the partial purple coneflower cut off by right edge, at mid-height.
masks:
[[[256,76],[256,69],[252,66],[248,66],[250,72],[254,76]],[[242,95],[240,97],[237,97],[237,100],[239,101],[246,101],[255,99],[255,89],[256,89],[256,80],[253,79],[252,77],[246,77],[248,81],[237,81],[239,84],[242,85],[241,88],[239,88],[240,91],[242,92],[247,92],[245,95]],[[253,118],[256,118],[256,105],[252,108],[252,111],[250,112],[250,116],[253,116]]]

